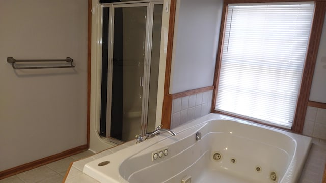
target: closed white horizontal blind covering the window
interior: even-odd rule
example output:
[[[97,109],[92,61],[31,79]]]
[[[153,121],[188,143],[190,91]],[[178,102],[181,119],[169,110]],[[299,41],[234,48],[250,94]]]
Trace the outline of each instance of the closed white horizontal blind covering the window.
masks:
[[[291,128],[314,3],[228,6],[215,110]]]

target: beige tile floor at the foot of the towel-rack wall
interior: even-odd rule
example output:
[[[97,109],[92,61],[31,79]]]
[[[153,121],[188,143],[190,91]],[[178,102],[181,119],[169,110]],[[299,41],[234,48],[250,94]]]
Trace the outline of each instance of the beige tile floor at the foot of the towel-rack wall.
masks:
[[[0,183],[61,183],[71,162],[94,155],[92,151],[52,162],[29,171],[0,180]]]

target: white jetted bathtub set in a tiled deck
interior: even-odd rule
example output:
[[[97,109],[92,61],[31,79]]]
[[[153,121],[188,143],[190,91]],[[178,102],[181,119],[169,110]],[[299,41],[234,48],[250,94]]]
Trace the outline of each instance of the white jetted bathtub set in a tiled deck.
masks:
[[[173,131],[87,163],[83,172],[99,182],[297,182],[312,140],[220,114]]]

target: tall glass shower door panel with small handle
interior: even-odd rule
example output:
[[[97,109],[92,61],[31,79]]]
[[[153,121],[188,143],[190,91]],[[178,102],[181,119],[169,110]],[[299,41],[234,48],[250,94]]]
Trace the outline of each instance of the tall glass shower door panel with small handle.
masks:
[[[110,137],[122,141],[140,133],[147,11],[147,6],[114,6]]]

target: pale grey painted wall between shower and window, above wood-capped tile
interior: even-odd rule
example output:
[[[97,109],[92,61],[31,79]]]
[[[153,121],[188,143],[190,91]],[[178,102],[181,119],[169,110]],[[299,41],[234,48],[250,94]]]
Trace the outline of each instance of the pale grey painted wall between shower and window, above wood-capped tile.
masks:
[[[222,0],[177,1],[170,94],[213,85]]]

